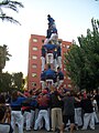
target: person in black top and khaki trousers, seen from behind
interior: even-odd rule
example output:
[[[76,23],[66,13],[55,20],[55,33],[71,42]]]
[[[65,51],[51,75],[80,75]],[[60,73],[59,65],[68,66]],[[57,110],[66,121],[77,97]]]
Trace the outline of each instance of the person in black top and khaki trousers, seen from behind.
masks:
[[[51,120],[52,120],[52,131],[55,132],[56,129],[61,129],[61,125],[63,123],[63,116],[62,116],[62,106],[63,102],[61,100],[61,95],[57,91],[53,91],[51,93]]]

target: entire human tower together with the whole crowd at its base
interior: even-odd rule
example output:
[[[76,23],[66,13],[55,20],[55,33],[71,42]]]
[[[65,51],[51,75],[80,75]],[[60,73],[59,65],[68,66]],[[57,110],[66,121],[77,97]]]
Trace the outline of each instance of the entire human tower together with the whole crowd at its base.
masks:
[[[50,14],[47,20],[47,34],[42,47],[42,88],[0,94],[0,133],[15,133],[16,127],[19,133],[41,129],[57,133],[69,130],[74,133],[79,129],[95,130],[99,123],[99,93],[96,90],[91,93],[74,92],[62,85],[61,43],[55,20]],[[46,70],[45,62],[48,64]],[[47,81],[53,83],[44,85]]]

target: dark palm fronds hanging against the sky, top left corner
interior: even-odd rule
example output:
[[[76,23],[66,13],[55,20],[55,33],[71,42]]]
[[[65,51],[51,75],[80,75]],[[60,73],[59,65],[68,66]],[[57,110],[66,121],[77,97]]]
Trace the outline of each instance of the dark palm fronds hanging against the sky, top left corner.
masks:
[[[18,10],[19,8],[23,8],[23,4],[21,2],[18,1],[12,1],[12,0],[2,0],[0,1],[0,19],[13,22],[13,23],[19,23],[21,24],[18,20],[13,19],[13,17],[8,16],[6,12],[3,12],[3,9],[11,9],[15,12],[19,12]]]

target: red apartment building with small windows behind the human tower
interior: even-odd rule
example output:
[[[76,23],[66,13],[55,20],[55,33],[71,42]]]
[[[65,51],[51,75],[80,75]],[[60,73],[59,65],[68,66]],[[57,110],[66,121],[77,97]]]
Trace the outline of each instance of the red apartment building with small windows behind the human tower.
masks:
[[[29,70],[28,70],[28,89],[31,90],[34,88],[36,83],[36,88],[41,88],[40,79],[41,79],[41,49],[43,44],[43,40],[45,40],[44,35],[31,34],[29,41]],[[72,42],[62,40],[62,64],[63,72],[65,75],[64,85],[68,89],[72,89],[70,79],[66,74],[66,69],[64,65],[64,53],[68,50]]]

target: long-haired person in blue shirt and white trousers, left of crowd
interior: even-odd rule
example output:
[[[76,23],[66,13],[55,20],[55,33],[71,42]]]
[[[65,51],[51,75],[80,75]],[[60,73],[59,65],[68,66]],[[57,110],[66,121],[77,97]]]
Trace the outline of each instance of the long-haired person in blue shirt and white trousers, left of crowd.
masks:
[[[24,94],[18,91],[12,92],[11,96],[11,125],[15,132],[15,123],[18,124],[19,133],[23,133],[23,115],[21,112],[22,102],[26,99]]]

